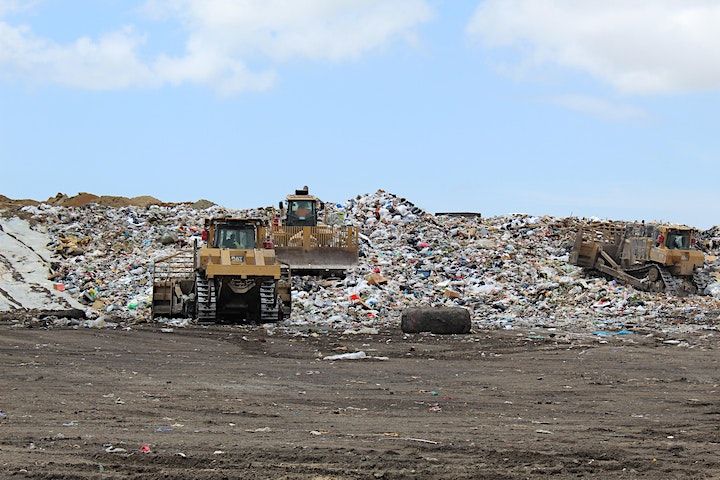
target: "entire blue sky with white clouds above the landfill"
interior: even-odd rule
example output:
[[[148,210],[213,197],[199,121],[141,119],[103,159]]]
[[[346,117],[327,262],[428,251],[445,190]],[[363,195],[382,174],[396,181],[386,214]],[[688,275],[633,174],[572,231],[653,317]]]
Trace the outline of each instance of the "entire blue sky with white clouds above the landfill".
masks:
[[[715,3],[0,0],[0,193],[720,224]]]

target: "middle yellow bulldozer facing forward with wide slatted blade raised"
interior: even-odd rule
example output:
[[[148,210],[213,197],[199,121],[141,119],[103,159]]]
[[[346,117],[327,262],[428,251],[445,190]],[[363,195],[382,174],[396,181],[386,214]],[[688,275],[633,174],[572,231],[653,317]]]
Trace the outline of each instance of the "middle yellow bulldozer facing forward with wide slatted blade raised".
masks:
[[[358,229],[343,225],[344,218],[337,215],[336,224],[329,224],[329,208],[310,195],[308,187],[288,195],[279,208],[280,217],[273,222],[269,236],[280,261],[293,272],[337,275],[357,264]]]

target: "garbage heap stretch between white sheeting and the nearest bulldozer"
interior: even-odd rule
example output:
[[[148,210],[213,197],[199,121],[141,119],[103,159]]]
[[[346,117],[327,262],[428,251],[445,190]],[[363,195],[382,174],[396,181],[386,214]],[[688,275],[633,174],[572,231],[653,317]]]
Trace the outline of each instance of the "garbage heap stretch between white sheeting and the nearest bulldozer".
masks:
[[[196,202],[197,203],[197,202]],[[196,204],[67,207],[43,203],[20,209],[44,229],[55,253],[50,278],[82,304],[119,320],[150,318],[152,268],[157,259],[200,240],[204,219],[228,215]],[[258,212],[248,211],[248,214]]]

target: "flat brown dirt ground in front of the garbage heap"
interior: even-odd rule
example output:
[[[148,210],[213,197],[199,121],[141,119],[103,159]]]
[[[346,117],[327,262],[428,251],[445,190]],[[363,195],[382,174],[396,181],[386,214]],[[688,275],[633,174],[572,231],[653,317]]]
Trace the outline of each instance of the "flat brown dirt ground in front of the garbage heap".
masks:
[[[720,478],[714,338],[4,326],[0,477]]]

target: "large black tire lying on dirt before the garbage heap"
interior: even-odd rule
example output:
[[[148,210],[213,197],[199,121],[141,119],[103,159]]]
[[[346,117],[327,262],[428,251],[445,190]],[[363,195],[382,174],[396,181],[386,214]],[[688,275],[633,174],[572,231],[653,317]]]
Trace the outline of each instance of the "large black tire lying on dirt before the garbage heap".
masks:
[[[470,333],[471,325],[470,310],[462,307],[408,308],[400,321],[405,333]]]

